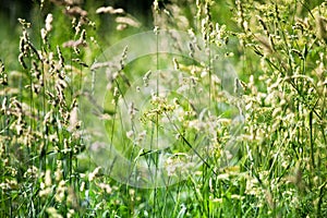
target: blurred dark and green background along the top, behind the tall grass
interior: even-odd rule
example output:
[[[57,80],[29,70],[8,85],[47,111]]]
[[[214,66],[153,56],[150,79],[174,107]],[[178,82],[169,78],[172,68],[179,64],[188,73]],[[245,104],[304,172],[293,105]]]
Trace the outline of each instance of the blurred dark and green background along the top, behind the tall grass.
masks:
[[[58,45],[61,45],[64,34],[68,34],[68,25],[72,20],[64,14],[64,2],[71,5],[78,5],[81,9],[87,11],[88,19],[96,24],[95,31],[104,45],[110,45],[125,36],[140,31],[148,31],[154,27],[153,17],[153,1],[154,0],[45,0],[43,10],[40,10],[40,0],[0,0],[0,59],[7,62],[8,70],[16,70],[19,53],[20,35],[22,27],[19,25],[17,19],[25,19],[34,25],[34,32],[31,33],[34,41],[39,40],[39,32],[44,26],[46,15],[52,13],[53,17],[60,20],[61,26],[56,29],[56,37]],[[256,0],[264,2],[263,0]],[[303,2],[302,12],[305,14],[307,9],[313,9],[315,5],[322,3],[324,0],[312,0]],[[179,31],[186,31],[198,26],[195,14],[195,0],[159,0],[159,8],[167,9],[161,15],[166,15],[166,24],[169,28],[179,28]],[[230,9],[233,7],[233,0],[215,0],[211,8],[211,19],[219,24],[226,24],[230,31],[238,31],[238,26],[233,17],[235,12]],[[136,21],[140,27],[130,27],[123,32],[117,32],[117,14],[97,14],[96,10],[100,7],[112,7],[114,9],[123,9],[124,14]],[[161,10],[162,12],[164,10]],[[168,14],[168,15],[167,15]],[[60,24],[60,22],[56,22]],[[64,23],[64,24],[63,24]],[[31,29],[31,32],[32,32]],[[8,62],[10,64],[8,64]]]

